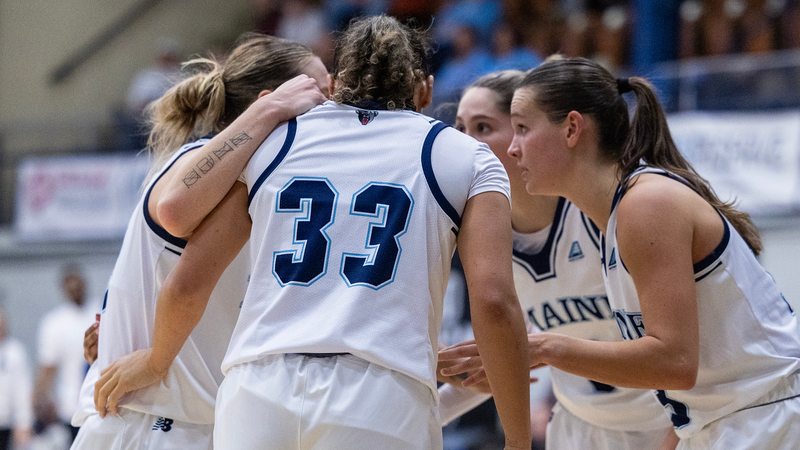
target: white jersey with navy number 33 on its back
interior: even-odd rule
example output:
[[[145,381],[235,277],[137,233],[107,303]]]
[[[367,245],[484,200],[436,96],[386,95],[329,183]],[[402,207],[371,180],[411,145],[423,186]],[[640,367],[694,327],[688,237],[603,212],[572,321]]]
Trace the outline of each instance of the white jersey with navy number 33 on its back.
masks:
[[[329,101],[276,129],[245,178],[253,276],[223,372],[269,354],[341,352],[436,392],[465,204],[509,197],[491,150],[422,114]]]

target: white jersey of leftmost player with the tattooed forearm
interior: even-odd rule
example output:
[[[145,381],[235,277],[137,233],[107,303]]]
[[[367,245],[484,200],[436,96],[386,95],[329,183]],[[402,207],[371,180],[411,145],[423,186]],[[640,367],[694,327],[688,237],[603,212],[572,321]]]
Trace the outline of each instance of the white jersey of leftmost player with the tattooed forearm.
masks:
[[[166,163],[147,185],[128,223],[103,301],[99,371],[121,356],[152,345],[158,293],[178,263],[186,241],[158,226],[150,217],[147,202],[153,185],[172,164],[206,142],[207,139],[201,139],[182,147]],[[245,245],[225,270],[203,317],[175,357],[164,381],[128,393],[122,407],[183,422],[214,423],[214,400],[223,378],[220,366],[247,289],[248,254]]]

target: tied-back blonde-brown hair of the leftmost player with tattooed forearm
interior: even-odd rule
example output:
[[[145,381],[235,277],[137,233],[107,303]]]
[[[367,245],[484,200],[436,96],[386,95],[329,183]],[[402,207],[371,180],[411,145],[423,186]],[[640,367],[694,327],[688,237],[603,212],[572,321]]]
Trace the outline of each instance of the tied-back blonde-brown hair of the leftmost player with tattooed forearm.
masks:
[[[191,75],[146,110],[147,150],[154,159],[147,179],[182,145],[225,129],[261,91],[301,74],[313,56],[302,44],[247,33],[224,64],[212,58],[185,62]]]

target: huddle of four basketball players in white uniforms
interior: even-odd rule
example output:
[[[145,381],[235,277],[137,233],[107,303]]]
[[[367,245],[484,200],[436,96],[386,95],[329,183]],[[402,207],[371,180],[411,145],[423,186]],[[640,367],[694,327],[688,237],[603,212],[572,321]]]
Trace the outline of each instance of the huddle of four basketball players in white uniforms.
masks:
[[[795,448],[795,314],[651,85],[552,57],[476,80],[453,128],[421,114],[429,55],[376,16],[331,75],[260,35],[187,63],[72,448],[440,449],[492,396],[530,449],[544,365],[548,449]],[[456,249],[475,339],[441,343]]]

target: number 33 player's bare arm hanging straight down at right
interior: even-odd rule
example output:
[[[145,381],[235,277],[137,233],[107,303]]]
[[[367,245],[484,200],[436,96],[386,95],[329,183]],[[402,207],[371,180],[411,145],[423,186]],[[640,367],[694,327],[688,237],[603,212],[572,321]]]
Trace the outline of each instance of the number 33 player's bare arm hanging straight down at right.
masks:
[[[483,355],[506,448],[530,448],[525,324],[512,279],[508,198],[485,192],[467,201],[458,249],[469,290],[475,340]]]

